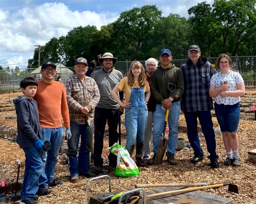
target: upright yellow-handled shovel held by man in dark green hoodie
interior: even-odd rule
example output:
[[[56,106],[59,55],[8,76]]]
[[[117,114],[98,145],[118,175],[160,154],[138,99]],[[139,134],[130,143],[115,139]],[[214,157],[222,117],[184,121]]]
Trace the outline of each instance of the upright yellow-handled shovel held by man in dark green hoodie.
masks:
[[[165,138],[168,116],[169,116],[169,109],[166,110],[166,115],[165,115],[165,120],[164,120],[163,138],[159,141],[156,158],[155,158],[155,165],[159,165],[163,161],[166,146],[168,144],[168,140],[166,140],[166,138]]]

